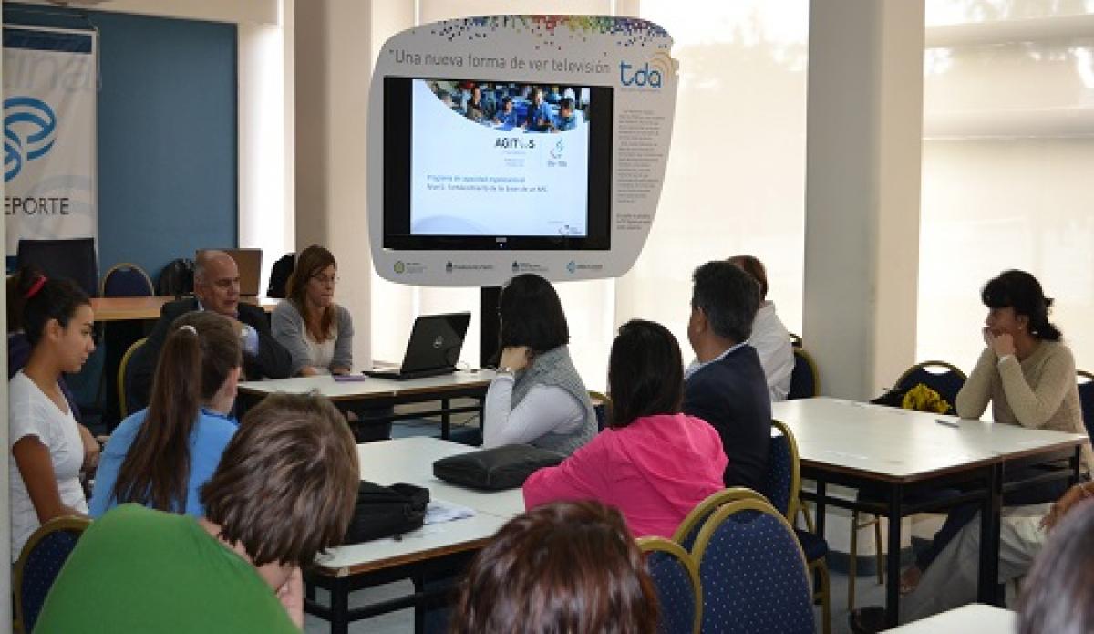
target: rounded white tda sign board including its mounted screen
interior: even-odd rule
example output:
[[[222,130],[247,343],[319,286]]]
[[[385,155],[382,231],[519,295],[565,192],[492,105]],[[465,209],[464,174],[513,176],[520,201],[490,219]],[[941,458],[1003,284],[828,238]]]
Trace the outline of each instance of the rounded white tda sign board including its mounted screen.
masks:
[[[388,39],[369,109],[373,264],[392,281],[617,277],[650,232],[678,64],[633,18],[491,15]]]

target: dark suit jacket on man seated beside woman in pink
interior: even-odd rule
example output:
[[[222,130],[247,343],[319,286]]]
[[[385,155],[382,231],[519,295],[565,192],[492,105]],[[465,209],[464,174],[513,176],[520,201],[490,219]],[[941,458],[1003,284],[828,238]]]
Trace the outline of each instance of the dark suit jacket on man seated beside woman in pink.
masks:
[[[771,441],[771,396],[759,355],[741,346],[684,383],[684,413],[710,423],[729,459],[725,486],[763,491]]]

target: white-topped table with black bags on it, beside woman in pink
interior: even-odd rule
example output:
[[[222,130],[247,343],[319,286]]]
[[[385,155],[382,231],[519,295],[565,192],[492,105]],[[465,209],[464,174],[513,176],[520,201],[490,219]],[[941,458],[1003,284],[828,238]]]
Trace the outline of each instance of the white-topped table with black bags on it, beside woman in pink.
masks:
[[[431,591],[428,581],[459,575],[505,521],[524,511],[524,498],[519,488],[478,492],[433,477],[433,461],[475,450],[466,445],[426,437],[359,445],[362,480],[382,485],[405,482],[423,486],[429,489],[431,500],[467,507],[475,515],[424,526],[397,538],[339,546],[321,555],[315,568],[306,575],[309,591],[304,608],[307,613],[326,619],[333,634],[345,634],[352,621],[412,607],[416,630],[420,631],[426,608],[438,602],[446,591]],[[353,590],[405,579],[414,581],[412,593],[349,608],[349,593]],[[329,592],[328,604],[316,601],[315,587]]]

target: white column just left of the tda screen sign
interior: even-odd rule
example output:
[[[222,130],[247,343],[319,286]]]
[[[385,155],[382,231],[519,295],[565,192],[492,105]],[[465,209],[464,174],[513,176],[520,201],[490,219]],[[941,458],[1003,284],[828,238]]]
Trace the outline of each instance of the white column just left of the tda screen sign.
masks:
[[[374,31],[396,9],[408,9],[412,20],[412,8],[360,0],[295,5],[296,249],[322,244],[338,260],[336,298],[353,315],[357,367],[371,360],[366,123],[374,48],[383,43]]]

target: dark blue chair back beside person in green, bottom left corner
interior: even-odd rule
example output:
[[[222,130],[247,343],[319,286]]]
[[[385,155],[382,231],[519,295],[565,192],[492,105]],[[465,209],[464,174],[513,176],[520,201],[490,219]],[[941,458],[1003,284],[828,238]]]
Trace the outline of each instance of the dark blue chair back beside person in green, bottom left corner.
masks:
[[[61,572],[77,540],[91,520],[82,517],[59,517],[34,531],[15,562],[15,619],[30,634],[38,621],[46,595]]]

